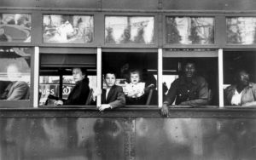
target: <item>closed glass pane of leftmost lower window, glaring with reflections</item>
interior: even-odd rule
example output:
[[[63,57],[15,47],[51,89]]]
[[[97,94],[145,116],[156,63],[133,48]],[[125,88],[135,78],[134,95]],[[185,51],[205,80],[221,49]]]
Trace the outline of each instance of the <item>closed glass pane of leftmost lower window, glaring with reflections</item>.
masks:
[[[0,48],[0,99],[28,100],[32,49]]]

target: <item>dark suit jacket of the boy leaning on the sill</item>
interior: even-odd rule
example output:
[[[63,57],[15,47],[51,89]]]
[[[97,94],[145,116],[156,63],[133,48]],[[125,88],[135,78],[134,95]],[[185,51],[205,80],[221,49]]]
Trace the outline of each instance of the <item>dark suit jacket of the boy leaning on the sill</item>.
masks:
[[[106,99],[106,89],[102,90],[102,104],[109,104],[112,108],[125,106],[125,94],[123,88],[113,85],[108,92]]]

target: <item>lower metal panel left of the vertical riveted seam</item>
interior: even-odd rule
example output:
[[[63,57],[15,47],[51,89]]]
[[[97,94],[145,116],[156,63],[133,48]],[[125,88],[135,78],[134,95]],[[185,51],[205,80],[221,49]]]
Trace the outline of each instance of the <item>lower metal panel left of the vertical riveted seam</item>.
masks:
[[[125,159],[129,125],[125,118],[2,119],[0,159]]]

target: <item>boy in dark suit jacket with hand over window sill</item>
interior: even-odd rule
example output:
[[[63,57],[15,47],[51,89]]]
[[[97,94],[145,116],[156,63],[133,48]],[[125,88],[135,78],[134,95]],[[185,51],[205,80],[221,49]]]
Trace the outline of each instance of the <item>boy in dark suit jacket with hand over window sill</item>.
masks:
[[[104,81],[107,85],[107,89],[102,90],[102,105],[98,107],[100,111],[104,111],[107,108],[113,109],[116,107],[125,106],[125,94],[123,88],[115,85],[116,76],[112,71],[108,71],[104,75]],[[100,94],[94,92],[93,100],[96,100],[96,95]]]

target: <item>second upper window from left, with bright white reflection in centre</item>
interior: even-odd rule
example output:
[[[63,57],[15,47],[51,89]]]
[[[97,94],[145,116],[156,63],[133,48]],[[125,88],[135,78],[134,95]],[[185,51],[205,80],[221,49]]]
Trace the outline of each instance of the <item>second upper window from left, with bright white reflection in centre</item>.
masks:
[[[92,43],[93,16],[44,14],[44,43]]]

